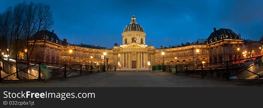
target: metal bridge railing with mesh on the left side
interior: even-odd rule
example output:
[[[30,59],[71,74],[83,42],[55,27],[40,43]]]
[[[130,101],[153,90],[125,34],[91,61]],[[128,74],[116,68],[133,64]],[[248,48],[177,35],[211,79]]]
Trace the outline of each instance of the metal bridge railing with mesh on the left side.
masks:
[[[47,80],[116,71],[116,66],[58,64],[1,57],[0,81]]]

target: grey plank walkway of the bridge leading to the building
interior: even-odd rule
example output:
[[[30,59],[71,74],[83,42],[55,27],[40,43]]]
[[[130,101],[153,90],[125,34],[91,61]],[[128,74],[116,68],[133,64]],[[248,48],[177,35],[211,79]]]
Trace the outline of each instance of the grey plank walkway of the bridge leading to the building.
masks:
[[[102,72],[48,82],[0,83],[0,87],[263,87],[263,83],[224,81],[167,72]]]

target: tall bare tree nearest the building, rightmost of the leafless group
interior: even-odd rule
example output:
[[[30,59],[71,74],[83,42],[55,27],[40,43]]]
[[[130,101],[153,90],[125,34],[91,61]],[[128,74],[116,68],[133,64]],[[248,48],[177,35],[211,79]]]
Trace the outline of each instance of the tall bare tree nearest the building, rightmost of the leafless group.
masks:
[[[25,26],[25,48],[27,60],[31,58],[33,49],[35,47],[37,36],[40,35],[38,32],[51,28],[54,24],[52,11],[49,5],[43,3],[30,3],[27,7],[26,12],[26,26]],[[36,35],[34,35],[36,34]]]

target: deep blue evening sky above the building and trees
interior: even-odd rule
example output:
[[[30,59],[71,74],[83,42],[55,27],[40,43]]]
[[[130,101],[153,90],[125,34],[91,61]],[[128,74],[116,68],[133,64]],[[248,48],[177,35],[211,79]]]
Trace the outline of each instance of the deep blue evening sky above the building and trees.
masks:
[[[25,0],[30,2],[32,0]],[[0,0],[0,12],[23,0]],[[122,44],[121,33],[133,15],[146,32],[146,44],[160,48],[208,38],[213,27],[228,28],[241,38],[263,35],[263,0],[33,0],[49,4],[51,30],[71,44],[113,48]],[[51,31],[50,30],[50,31]]]

